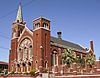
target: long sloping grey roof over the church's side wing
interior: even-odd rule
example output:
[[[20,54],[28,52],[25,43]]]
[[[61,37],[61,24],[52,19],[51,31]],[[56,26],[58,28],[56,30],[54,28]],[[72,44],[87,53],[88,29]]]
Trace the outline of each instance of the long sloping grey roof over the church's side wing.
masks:
[[[68,48],[72,48],[74,50],[80,50],[80,51],[83,51],[84,50],[84,48],[81,47],[80,45],[75,44],[75,43],[72,43],[72,42],[69,42],[69,41],[62,40],[61,41],[61,44],[60,44],[58,38],[51,36],[51,44],[52,43],[56,43],[58,46],[62,46],[64,48],[67,48],[68,47]]]

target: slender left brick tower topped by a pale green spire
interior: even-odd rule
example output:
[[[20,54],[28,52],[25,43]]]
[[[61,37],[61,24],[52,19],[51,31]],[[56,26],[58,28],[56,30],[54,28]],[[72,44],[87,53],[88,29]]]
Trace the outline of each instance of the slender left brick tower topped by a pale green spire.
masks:
[[[19,5],[16,20],[12,24],[12,38],[9,51],[9,72],[15,71],[15,62],[17,60],[17,40],[24,28],[25,22],[23,22],[22,9],[21,5]]]

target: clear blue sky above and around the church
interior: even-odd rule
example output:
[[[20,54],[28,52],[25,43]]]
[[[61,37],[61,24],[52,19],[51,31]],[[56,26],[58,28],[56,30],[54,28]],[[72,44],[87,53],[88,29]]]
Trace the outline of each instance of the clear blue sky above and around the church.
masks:
[[[93,40],[96,58],[100,57],[100,0],[0,0],[0,61],[9,61],[12,22],[20,3],[29,29],[35,18],[46,17],[52,36],[60,30],[62,39],[87,48]]]

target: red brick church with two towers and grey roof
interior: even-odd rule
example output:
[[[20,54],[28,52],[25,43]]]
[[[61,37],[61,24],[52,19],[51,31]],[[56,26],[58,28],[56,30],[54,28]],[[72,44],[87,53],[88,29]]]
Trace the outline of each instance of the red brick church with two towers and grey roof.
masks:
[[[57,32],[58,37],[51,36],[50,27],[50,20],[40,17],[33,20],[33,29],[28,29],[19,6],[16,20],[12,23],[9,72],[29,72],[34,68],[39,71],[40,68],[60,66],[61,55],[66,48],[72,49],[76,56],[84,57],[89,50],[94,52],[93,41],[90,41],[90,49],[87,50],[63,40],[60,31]]]

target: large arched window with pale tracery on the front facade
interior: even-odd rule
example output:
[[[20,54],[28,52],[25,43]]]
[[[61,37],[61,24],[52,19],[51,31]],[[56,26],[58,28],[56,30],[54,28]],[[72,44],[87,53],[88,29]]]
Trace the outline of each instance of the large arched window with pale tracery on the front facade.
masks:
[[[33,56],[32,51],[32,41],[29,38],[23,39],[19,45],[18,59],[30,60]]]

